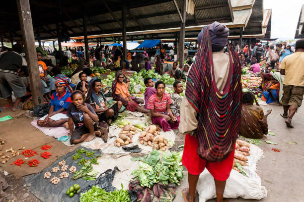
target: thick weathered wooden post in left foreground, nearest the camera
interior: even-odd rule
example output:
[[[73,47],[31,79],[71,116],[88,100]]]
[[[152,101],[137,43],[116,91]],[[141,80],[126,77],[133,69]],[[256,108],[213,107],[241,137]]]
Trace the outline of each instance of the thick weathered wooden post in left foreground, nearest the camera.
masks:
[[[26,61],[29,69],[31,93],[34,104],[37,106],[43,102],[42,88],[38,69],[38,61],[35,47],[35,37],[29,0],[16,0],[23,41],[25,45]]]

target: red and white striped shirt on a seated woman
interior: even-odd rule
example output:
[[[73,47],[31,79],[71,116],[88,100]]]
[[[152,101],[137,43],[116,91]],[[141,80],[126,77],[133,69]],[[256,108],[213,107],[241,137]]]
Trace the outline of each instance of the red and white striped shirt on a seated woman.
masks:
[[[154,112],[167,111],[167,104],[171,104],[171,98],[169,94],[163,93],[161,101],[158,101],[157,94],[152,95],[148,101],[148,109],[154,109]]]

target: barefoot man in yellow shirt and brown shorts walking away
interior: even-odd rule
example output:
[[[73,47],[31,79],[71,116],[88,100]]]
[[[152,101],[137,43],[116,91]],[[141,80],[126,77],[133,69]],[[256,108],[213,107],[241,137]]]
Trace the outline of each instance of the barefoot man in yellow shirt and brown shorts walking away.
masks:
[[[302,105],[304,95],[304,39],[296,42],[296,52],[286,56],[281,62],[281,74],[285,75],[283,82],[282,104],[283,118],[288,118],[287,127],[294,128],[292,118]]]

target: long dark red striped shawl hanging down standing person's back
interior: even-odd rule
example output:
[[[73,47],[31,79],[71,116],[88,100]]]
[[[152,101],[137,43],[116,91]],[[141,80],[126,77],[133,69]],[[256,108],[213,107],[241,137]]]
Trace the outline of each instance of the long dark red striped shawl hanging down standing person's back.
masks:
[[[203,34],[200,49],[187,76],[186,98],[197,112],[198,154],[214,162],[224,160],[233,151],[240,127],[241,65],[228,43],[229,75],[221,94],[216,86],[209,28]]]

